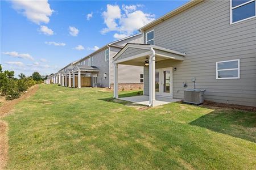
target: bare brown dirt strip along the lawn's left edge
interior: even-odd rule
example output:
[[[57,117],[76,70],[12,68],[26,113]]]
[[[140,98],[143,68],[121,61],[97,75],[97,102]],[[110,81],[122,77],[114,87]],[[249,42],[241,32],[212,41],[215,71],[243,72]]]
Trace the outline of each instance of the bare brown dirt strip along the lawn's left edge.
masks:
[[[7,114],[11,113],[14,108],[14,105],[19,103],[20,101],[26,99],[35,94],[38,90],[38,85],[35,85],[28,89],[27,92],[22,94],[18,99],[15,100],[3,100],[4,98],[1,97],[1,107],[0,107],[0,118],[6,116]],[[8,124],[0,120],[0,169],[3,169],[7,164],[7,154],[8,154]]]

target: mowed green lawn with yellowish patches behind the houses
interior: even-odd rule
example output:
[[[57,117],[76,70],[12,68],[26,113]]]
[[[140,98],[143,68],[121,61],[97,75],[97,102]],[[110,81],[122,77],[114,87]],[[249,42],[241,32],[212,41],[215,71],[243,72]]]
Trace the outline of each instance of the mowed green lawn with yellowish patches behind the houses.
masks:
[[[40,85],[3,118],[6,168],[256,168],[255,112],[179,103],[143,110],[112,96],[103,88]]]

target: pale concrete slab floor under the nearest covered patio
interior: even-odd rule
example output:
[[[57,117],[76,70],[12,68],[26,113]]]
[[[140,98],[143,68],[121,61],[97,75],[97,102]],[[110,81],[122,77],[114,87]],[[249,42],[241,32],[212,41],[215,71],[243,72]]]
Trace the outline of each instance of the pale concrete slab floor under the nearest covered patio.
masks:
[[[172,102],[176,102],[176,101],[181,101],[180,99],[170,99],[170,98],[166,98],[166,97],[157,97],[156,96],[155,98],[156,98],[155,106],[168,104],[168,103],[172,103]],[[136,103],[136,104],[149,105],[148,96],[146,96],[146,95],[133,96],[133,97],[121,97],[119,99],[130,101],[130,102]]]

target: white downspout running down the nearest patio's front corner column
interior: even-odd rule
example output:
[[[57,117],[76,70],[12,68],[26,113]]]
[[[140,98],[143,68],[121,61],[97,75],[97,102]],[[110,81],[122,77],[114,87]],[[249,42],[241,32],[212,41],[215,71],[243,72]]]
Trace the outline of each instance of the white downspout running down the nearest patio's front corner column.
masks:
[[[150,47],[150,51],[152,52],[152,54],[150,55],[149,58],[149,99],[150,99],[150,103],[149,103],[149,107],[151,107],[153,105],[152,101],[153,101],[153,92],[155,89],[152,88],[152,84],[153,82],[153,76],[154,76],[154,71],[155,71],[155,65],[152,65],[153,61],[155,62],[155,50],[152,48],[152,46]]]

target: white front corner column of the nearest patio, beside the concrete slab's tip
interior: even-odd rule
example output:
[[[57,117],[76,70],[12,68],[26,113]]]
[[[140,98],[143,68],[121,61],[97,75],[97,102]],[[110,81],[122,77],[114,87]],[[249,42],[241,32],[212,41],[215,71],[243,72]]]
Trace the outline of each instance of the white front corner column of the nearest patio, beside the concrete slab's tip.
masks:
[[[150,106],[154,107],[155,104],[155,50],[150,48],[152,54],[149,59],[149,100]]]

